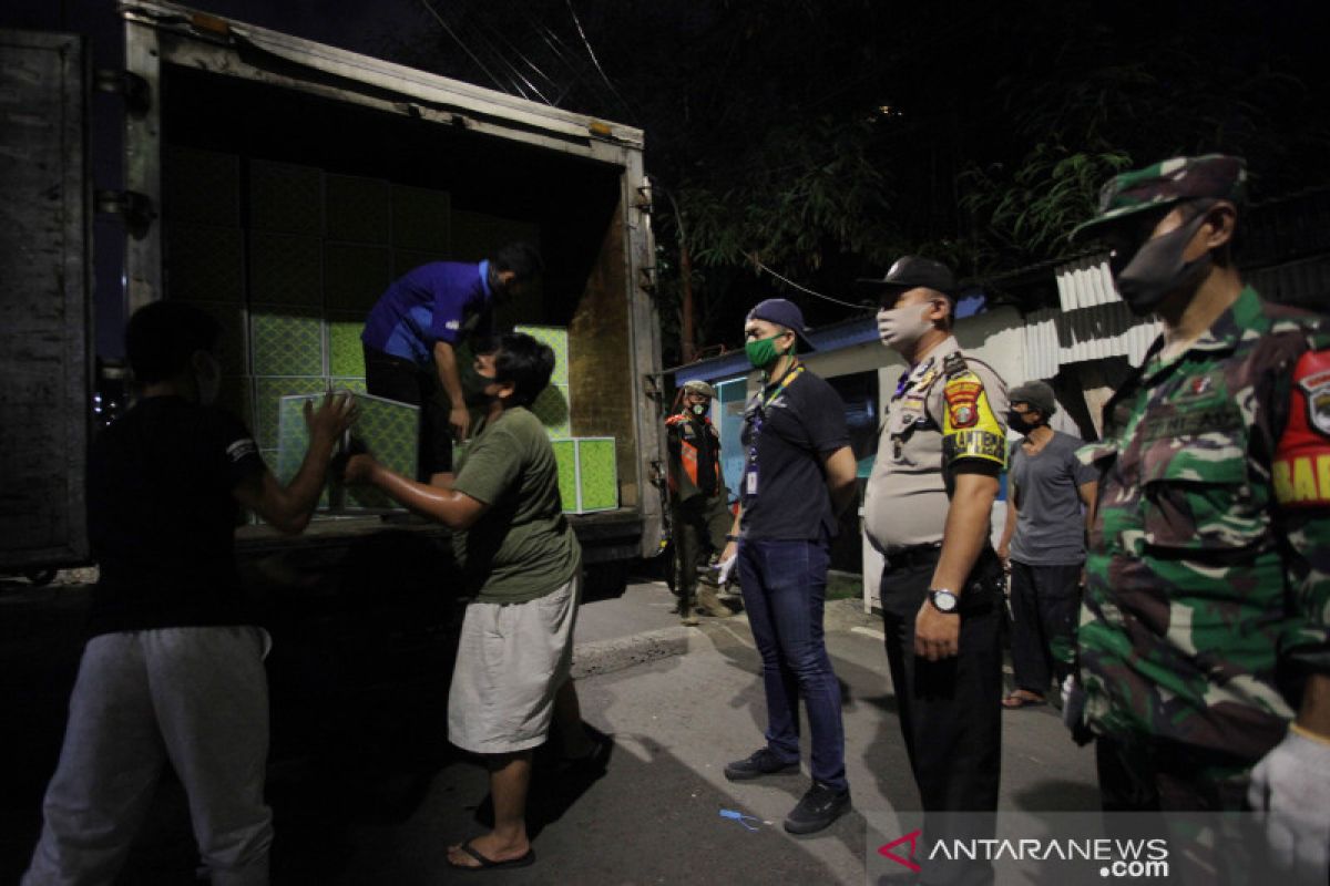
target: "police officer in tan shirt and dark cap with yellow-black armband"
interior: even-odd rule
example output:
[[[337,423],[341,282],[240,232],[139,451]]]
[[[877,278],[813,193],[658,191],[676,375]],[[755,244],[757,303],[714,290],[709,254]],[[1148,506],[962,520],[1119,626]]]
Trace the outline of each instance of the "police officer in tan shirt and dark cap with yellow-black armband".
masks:
[[[864,501],[864,531],[886,557],[882,616],[900,729],[924,810],[996,810],[1003,600],[990,515],[1007,456],[1005,387],[951,333],[947,266],[904,256],[862,283],[879,292],[882,343],[910,364]]]

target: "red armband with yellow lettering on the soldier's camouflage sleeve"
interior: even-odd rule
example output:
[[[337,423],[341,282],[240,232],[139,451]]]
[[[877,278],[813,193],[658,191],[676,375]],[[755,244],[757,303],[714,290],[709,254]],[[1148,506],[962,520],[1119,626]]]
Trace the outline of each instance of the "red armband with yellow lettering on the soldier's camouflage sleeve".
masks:
[[[1330,349],[1298,359],[1289,399],[1273,464],[1274,498],[1285,507],[1330,506]]]

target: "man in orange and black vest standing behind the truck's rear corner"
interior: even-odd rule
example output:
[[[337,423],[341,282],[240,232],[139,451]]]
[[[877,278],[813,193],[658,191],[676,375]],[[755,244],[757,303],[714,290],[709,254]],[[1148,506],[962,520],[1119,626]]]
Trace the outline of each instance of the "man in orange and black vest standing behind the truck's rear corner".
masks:
[[[725,550],[734,522],[721,470],[721,436],[708,417],[716,389],[705,381],[685,381],[680,409],[665,420],[669,446],[669,503],[674,529],[674,590],[684,624],[697,624],[697,610],[734,615],[716,596],[716,587],[698,583],[697,570]]]

